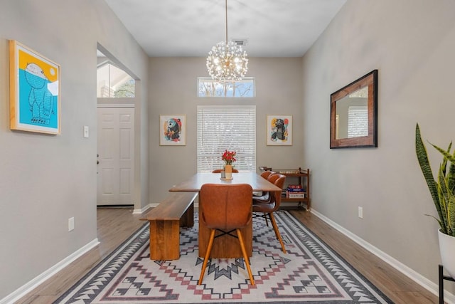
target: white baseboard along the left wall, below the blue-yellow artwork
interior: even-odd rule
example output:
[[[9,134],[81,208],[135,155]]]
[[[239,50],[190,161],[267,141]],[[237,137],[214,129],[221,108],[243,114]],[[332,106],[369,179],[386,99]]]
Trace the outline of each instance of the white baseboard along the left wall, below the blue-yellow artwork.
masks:
[[[31,290],[38,287],[38,285],[41,285],[42,283],[44,283],[44,281],[48,280],[48,278],[50,278],[51,276],[54,276],[55,273],[58,273],[58,271],[61,271],[66,266],[70,265],[70,263],[72,263],[77,258],[82,256],[84,253],[86,253],[87,251],[90,251],[92,248],[97,246],[99,243],[100,242],[98,241],[98,239],[94,239],[90,243],[87,243],[87,245],[85,245],[82,248],[78,249],[77,251],[71,253],[70,256],[67,256],[62,261],[56,263],[54,266],[50,267],[48,270],[41,273],[41,275],[37,276],[36,278],[33,278],[31,281],[29,281],[25,285],[22,285],[20,288],[16,289],[13,293],[6,295],[5,298],[0,299],[0,304],[14,303],[16,300],[22,298],[27,293],[31,292]]]

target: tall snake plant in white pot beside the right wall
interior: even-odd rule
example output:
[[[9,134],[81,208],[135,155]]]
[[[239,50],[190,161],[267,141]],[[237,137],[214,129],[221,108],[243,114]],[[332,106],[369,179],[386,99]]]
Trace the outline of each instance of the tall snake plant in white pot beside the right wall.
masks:
[[[419,124],[415,127],[415,150],[419,160],[420,169],[424,174],[428,189],[436,207],[439,223],[439,253],[442,265],[452,278],[455,278],[455,152],[451,154],[450,142],[447,150],[441,149],[430,143],[439,151],[442,162],[439,164],[437,179],[434,179],[430,167],[427,148],[420,136]]]

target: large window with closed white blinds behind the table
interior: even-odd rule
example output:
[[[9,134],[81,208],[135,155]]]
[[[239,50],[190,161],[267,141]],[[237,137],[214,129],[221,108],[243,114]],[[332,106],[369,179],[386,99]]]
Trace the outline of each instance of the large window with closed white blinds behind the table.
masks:
[[[223,167],[221,154],[237,152],[239,171],[256,171],[256,107],[254,105],[198,106],[198,172]]]

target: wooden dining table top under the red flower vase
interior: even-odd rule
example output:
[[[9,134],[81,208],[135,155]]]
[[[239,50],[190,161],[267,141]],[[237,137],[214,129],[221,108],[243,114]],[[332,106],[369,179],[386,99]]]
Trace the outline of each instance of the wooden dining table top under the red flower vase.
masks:
[[[169,189],[170,192],[199,192],[203,184],[250,184],[253,191],[282,191],[256,172],[232,173],[232,179],[221,179],[220,173],[196,173],[190,179]]]

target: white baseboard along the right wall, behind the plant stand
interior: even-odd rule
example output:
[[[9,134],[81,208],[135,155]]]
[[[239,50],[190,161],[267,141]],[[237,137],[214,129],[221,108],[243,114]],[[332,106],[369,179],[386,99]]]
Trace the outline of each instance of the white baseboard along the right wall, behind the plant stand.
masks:
[[[397,269],[397,271],[400,271],[405,276],[410,278],[412,281],[421,285],[423,288],[429,290],[430,293],[439,296],[439,286],[436,283],[433,283],[429,279],[422,276],[420,273],[417,273],[416,271],[412,270],[412,268],[409,268],[400,261],[397,261],[395,258],[392,258],[392,256],[389,256],[387,253],[380,251],[379,248],[376,248],[375,246],[371,245],[365,240],[360,239],[358,236],[348,231],[347,229],[344,229],[342,226],[336,224],[334,221],[328,219],[326,216],[323,216],[318,211],[311,209],[311,213],[314,214],[315,216],[318,216],[319,219],[325,221],[328,225],[340,231],[342,234],[347,236],[349,239],[355,241],[355,243],[358,243],[360,246],[370,251],[375,256],[378,256],[378,258],[380,258],[382,261],[385,261],[385,263]],[[455,295],[449,293],[447,290],[444,290],[444,300],[446,301],[447,304],[455,304]]]

